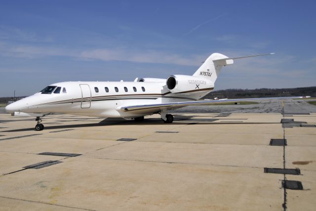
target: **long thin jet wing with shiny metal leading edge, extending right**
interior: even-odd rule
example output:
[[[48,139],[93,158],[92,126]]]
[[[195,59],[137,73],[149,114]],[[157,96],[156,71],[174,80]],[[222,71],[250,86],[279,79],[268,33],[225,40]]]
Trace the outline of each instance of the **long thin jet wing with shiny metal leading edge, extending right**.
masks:
[[[160,109],[176,109],[184,106],[198,106],[198,105],[212,105],[223,102],[238,102],[238,101],[257,101],[257,100],[275,100],[275,99],[293,99],[303,98],[302,96],[294,97],[263,97],[263,98],[243,98],[243,99],[219,99],[219,100],[199,100],[188,102],[173,102],[173,103],[160,103],[160,104],[144,104],[144,105],[131,105],[120,107],[121,111],[140,111],[140,110],[160,110]]]

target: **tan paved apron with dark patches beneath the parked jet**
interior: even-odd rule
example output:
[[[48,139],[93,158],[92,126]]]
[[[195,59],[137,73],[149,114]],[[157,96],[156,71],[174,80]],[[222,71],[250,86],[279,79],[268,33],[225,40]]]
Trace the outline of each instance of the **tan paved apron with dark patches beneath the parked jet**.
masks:
[[[315,210],[316,112],[296,104],[183,108],[172,124],[52,115],[42,131],[1,113],[0,210]]]

